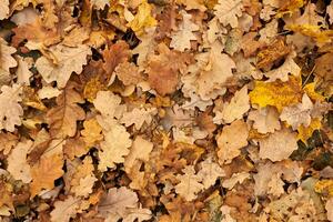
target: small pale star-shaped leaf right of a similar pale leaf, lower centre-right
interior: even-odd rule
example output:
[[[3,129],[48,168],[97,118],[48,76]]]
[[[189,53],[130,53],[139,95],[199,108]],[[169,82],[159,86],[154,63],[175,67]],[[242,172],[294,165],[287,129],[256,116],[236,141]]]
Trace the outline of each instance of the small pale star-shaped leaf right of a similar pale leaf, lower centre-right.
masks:
[[[211,157],[201,162],[201,170],[198,172],[198,176],[202,178],[204,189],[214,185],[216,180],[224,175],[225,173],[222,168],[213,162]]]

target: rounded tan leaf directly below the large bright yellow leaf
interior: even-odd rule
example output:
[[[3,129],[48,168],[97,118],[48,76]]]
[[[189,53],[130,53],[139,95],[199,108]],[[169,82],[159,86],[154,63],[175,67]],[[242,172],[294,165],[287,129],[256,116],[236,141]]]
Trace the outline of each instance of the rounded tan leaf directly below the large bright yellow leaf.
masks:
[[[274,132],[281,129],[279,113],[273,107],[250,111],[249,120],[253,121],[253,128],[260,133]]]

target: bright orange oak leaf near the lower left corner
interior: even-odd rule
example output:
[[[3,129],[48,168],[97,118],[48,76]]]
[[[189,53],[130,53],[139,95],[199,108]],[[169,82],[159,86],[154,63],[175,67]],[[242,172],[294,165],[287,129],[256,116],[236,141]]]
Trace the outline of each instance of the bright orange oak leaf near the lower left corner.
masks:
[[[36,165],[31,167],[30,198],[34,198],[42,189],[54,188],[54,180],[62,176],[63,160],[61,155],[42,157]]]

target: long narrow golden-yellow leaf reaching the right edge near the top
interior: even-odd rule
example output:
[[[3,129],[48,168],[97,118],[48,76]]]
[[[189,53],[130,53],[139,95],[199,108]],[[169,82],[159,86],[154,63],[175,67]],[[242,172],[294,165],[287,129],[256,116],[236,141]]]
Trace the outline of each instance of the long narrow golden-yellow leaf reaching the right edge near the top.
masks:
[[[319,26],[312,24],[289,24],[286,29],[299,32],[303,36],[311,37],[320,43],[326,43],[332,41],[333,30],[321,30]]]

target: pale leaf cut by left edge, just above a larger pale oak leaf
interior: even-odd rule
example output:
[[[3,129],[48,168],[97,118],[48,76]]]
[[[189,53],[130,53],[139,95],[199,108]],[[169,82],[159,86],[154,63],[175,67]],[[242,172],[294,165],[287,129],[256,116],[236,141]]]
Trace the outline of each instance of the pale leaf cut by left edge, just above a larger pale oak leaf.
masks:
[[[16,52],[17,50],[14,48],[9,47],[7,41],[0,38],[0,85],[9,81],[9,69],[18,65],[18,62],[11,56]]]

